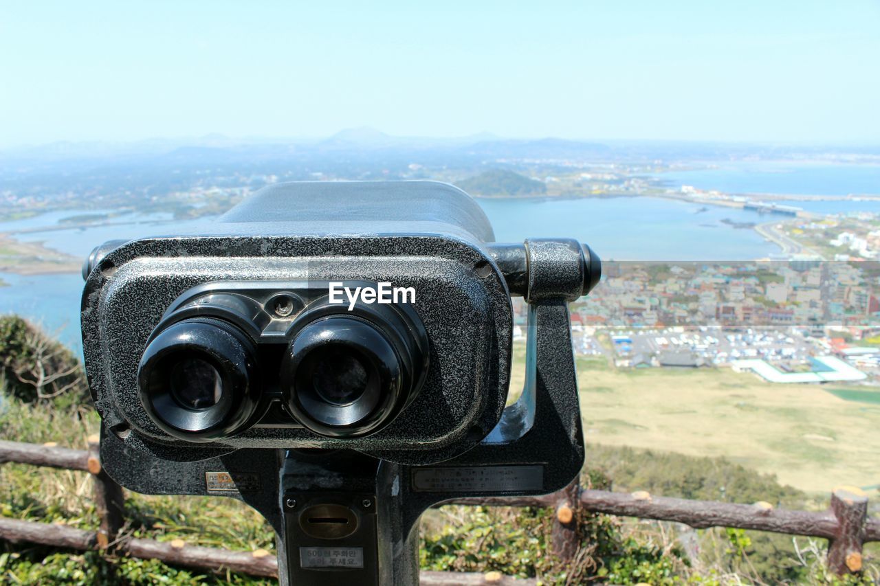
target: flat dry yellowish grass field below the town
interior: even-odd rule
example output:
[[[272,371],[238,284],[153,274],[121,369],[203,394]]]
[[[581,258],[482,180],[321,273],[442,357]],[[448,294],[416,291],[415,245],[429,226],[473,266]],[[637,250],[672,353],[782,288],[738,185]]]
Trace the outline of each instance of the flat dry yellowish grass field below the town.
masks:
[[[522,385],[523,355],[517,348],[514,389]],[[724,456],[813,493],[880,484],[876,403],[841,399],[824,385],[772,385],[730,369],[577,363],[588,444]]]

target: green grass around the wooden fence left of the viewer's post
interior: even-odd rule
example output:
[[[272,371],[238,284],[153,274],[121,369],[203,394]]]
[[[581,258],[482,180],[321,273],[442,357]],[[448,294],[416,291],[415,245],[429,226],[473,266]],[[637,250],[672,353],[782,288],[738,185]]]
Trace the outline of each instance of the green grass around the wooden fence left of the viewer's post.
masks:
[[[3,398],[3,439],[57,442],[82,449],[98,425],[91,407],[29,405],[9,396]],[[240,551],[274,548],[271,528],[242,502],[221,497],[125,494],[125,535],[159,541],[180,538],[192,545]],[[3,516],[11,518],[61,522],[86,530],[95,530],[99,524],[92,502],[92,479],[86,472],[5,464],[0,467],[0,502]],[[0,582],[4,583],[275,583],[248,575],[211,575],[173,568],[155,560],[104,558],[93,552],[59,553],[48,547],[10,545],[4,551],[0,555]]]

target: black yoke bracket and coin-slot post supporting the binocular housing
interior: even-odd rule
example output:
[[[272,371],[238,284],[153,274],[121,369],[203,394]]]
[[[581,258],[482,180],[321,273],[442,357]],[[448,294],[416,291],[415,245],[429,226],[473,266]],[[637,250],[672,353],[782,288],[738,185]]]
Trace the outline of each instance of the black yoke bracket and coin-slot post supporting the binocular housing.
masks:
[[[275,529],[282,586],[417,584],[426,509],[467,496],[552,493],[583,466],[568,302],[598,281],[598,258],[572,240],[490,245],[490,253],[511,293],[529,304],[526,382],[472,450],[420,466],[355,451],[265,449],[183,464],[144,458],[102,426],[101,457],[123,486],[227,495],[259,510]]]

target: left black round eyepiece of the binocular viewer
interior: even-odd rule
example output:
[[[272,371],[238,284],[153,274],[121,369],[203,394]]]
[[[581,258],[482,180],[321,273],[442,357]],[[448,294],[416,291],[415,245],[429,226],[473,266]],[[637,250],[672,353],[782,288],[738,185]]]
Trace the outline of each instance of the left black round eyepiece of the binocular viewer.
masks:
[[[233,436],[257,407],[254,356],[247,335],[221,319],[173,323],[143,352],[143,408],[159,428],[189,442]]]

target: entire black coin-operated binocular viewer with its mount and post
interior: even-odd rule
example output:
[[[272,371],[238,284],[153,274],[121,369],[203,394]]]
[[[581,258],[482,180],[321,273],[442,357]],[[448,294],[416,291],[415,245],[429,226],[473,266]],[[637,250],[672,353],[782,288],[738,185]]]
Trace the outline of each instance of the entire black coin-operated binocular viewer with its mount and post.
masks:
[[[103,465],[250,503],[282,584],[416,583],[425,509],[580,472],[568,302],[600,274],[575,240],[495,243],[431,181],[278,184],[198,233],[106,243],[82,304]]]

